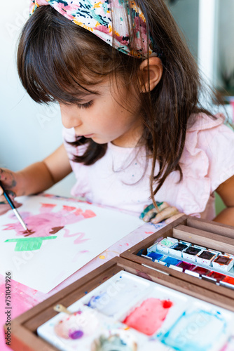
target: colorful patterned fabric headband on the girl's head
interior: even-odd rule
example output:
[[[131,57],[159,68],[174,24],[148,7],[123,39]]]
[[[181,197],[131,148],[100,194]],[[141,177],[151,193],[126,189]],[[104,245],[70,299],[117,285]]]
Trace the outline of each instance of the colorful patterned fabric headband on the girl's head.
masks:
[[[76,23],[76,25],[88,29],[107,44],[127,55],[137,58],[147,58],[148,53],[149,56],[157,55],[153,52],[150,36],[149,40],[147,40],[146,19],[144,14],[134,0],[130,1],[131,11],[127,7],[127,0],[31,1],[31,14],[34,13],[39,6],[50,5],[55,8],[56,11],[64,15],[64,17]],[[128,21],[125,20],[126,13],[128,13],[129,19],[131,13],[133,20],[135,50],[130,48]],[[112,22],[114,25],[114,33],[112,33]]]

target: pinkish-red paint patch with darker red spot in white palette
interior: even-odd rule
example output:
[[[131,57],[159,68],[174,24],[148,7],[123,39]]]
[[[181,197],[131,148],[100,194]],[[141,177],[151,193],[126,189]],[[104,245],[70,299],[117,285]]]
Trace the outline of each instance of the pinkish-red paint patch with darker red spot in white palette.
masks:
[[[153,335],[163,325],[167,313],[173,303],[170,300],[148,298],[135,308],[123,323],[148,336]]]

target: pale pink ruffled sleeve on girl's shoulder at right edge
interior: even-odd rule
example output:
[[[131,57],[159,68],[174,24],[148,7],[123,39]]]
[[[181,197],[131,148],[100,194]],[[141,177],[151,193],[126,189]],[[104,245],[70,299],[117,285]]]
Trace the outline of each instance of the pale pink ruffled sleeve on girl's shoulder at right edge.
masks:
[[[234,174],[234,133],[223,114],[192,116],[180,164],[188,178],[208,181],[211,192]]]

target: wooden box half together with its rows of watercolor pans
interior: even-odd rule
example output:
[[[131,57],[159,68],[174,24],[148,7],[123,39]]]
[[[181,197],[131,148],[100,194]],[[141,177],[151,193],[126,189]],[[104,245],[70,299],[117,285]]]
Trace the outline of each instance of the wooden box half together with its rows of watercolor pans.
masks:
[[[121,257],[233,297],[234,227],[183,216]]]

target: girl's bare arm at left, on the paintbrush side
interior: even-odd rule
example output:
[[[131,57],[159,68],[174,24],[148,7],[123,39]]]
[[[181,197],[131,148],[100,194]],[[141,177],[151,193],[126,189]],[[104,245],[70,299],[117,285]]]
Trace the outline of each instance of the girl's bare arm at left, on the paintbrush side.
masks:
[[[0,180],[12,197],[36,194],[47,190],[71,173],[64,145],[41,162],[36,162],[18,172],[0,169]],[[0,197],[4,201],[4,197]]]

